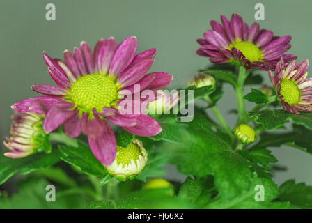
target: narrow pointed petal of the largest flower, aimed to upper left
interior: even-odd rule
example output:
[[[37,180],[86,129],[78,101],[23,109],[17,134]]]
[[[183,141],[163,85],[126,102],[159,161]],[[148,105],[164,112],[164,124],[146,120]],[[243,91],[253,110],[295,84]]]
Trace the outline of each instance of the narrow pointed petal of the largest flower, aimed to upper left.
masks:
[[[54,61],[54,59],[45,53],[43,53],[43,59],[45,60],[49,74],[51,75],[54,82],[61,86],[61,88],[68,89],[70,87],[70,82],[66,77],[64,70],[59,66],[58,63],[56,63],[56,61]]]

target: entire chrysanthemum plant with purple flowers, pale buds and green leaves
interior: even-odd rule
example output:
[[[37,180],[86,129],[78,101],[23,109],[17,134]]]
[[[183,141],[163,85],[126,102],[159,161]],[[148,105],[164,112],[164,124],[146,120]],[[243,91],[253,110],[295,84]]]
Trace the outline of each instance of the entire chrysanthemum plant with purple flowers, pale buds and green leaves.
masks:
[[[312,208],[311,186],[272,180],[283,168],[269,150],[288,145],[312,153],[309,62],[286,54],[290,36],[249,26],[240,15],[210,24],[197,54],[214,65],[171,94],[164,88],[172,75],[148,73],[156,49],[138,54],[133,36],[119,45],[99,40],[93,50],[82,42],[64,60],[44,53],[57,86],[35,84],[42,96],[13,105],[0,183],[18,173],[31,177],[0,207]],[[263,83],[264,75],[272,83]],[[218,107],[224,84],[235,89],[235,126]],[[166,164],[186,180],[161,178]],[[43,202],[48,184],[56,185],[56,202]]]

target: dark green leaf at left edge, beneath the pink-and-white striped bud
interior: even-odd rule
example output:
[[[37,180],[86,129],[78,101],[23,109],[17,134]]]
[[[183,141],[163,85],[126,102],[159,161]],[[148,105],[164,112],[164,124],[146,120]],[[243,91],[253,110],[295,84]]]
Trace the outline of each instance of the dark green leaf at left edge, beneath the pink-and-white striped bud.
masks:
[[[0,184],[6,182],[8,178],[14,174],[29,174],[38,169],[45,169],[56,164],[60,160],[60,152],[58,150],[52,153],[37,153],[20,159],[12,159],[0,155]]]

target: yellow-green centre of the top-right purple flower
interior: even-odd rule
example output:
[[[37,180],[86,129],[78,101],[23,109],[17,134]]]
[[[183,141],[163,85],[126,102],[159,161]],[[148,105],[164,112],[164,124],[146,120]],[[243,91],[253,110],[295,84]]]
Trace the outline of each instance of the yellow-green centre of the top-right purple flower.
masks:
[[[263,52],[260,50],[256,45],[249,41],[242,41],[239,43],[231,43],[229,48],[232,49],[235,47],[239,49],[242,54],[249,59],[249,61],[256,62],[256,61],[263,61]]]

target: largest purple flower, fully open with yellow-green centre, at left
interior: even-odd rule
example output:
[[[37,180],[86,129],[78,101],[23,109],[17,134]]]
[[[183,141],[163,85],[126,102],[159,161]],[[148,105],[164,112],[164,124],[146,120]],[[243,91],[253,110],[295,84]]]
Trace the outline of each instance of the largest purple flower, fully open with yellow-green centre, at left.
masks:
[[[78,137],[81,132],[86,134],[95,157],[109,165],[116,157],[116,139],[106,120],[144,137],[162,131],[157,121],[142,109],[139,114],[124,114],[118,109],[126,96],[137,93],[134,84],[138,84],[141,91],[156,91],[173,79],[166,72],[146,75],[156,51],[148,49],[136,55],[137,38],[130,36],[120,45],[114,38],[99,40],[93,53],[88,43],[82,42],[73,54],[65,50],[65,61],[51,59],[44,53],[49,74],[59,87],[36,84],[32,86],[33,91],[46,96],[17,102],[13,109],[45,114],[43,128],[47,133],[63,124],[69,137]],[[127,106],[134,109],[144,104],[144,100],[148,99],[139,98]]]

